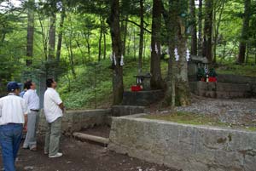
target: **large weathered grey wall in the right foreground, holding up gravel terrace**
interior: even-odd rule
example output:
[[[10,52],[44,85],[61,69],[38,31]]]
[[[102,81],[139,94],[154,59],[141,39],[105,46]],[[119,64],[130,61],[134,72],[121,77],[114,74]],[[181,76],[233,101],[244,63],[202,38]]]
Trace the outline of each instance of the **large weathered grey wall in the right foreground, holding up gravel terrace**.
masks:
[[[114,117],[108,149],[183,171],[254,171],[256,133]]]

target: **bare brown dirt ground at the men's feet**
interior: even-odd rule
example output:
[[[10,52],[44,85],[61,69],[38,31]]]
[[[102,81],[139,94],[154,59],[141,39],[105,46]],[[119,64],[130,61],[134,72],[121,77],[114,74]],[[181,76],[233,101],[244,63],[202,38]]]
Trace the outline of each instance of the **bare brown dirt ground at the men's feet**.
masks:
[[[38,151],[20,148],[16,162],[17,171],[175,171],[73,138],[62,138],[61,151],[63,157],[49,158],[44,155],[43,143],[39,142]],[[3,166],[1,160],[0,166]]]

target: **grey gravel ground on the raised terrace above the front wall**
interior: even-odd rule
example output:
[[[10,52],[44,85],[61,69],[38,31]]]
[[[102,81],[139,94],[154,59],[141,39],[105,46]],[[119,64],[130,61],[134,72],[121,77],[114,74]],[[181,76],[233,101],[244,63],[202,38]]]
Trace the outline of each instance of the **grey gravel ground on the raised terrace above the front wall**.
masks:
[[[171,109],[150,109],[148,113],[151,114],[153,118],[160,116],[164,120],[172,120],[177,123],[195,123],[200,121],[200,123],[211,123],[212,121],[228,127],[233,128],[246,128],[249,130],[256,130],[256,99],[212,99],[193,95],[192,104],[188,106],[178,106],[175,111],[189,113],[189,115],[176,117],[169,119],[169,114],[172,114]],[[175,112],[174,112],[175,113]],[[191,120],[191,115],[195,114],[195,119],[197,121]],[[157,117],[155,117],[157,116]],[[200,117],[201,116],[201,117]],[[149,116],[150,117],[150,116]],[[160,119],[161,119],[160,118]],[[167,118],[167,119],[166,119]],[[184,122],[182,119],[184,118]],[[201,121],[201,119],[205,119]],[[209,122],[210,121],[210,122]],[[196,123],[198,124],[198,123]],[[213,123],[214,124],[214,123]]]

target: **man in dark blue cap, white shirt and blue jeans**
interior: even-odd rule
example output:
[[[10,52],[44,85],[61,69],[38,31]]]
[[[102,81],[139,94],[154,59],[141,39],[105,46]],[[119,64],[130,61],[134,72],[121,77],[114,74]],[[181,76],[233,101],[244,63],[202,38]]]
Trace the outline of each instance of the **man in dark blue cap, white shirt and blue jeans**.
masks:
[[[15,159],[20,148],[23,126],[26,128],[26,102],[20,98],[16,82],[7,84],[9,94],[0,99],[0,144],[5,171],[15,171]]]

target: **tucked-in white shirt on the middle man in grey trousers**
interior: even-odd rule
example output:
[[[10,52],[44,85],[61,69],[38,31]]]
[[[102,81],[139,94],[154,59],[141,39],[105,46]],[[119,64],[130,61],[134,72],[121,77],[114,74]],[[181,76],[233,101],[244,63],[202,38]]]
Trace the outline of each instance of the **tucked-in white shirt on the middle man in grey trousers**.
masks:
[[[39,97],[36,90],[28,89],[23,95],[23,99],[26,101],[27,108],[29,110],[38,110],[39,109]]]

